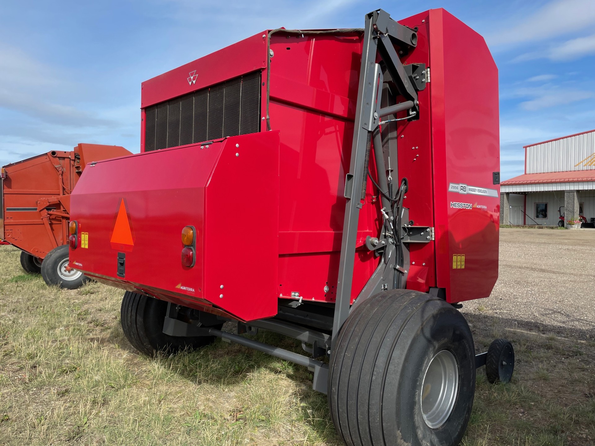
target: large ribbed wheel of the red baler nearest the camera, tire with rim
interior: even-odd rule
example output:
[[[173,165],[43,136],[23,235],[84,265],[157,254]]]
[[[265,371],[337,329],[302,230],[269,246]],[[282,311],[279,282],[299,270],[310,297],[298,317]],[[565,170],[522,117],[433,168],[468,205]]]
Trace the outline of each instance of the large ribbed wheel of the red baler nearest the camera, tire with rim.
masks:
[[[446,373],[441,383],[431,380],[444,376],[444,370],[454,373]],[[431,393],[431,384],[440,388],[445,382],[450,398]],[[419,291],[384,291],[356,307],[337,336],[329,363],[328,405],[347,445],[459,444],[474,392],[469,325],[442,299]]]

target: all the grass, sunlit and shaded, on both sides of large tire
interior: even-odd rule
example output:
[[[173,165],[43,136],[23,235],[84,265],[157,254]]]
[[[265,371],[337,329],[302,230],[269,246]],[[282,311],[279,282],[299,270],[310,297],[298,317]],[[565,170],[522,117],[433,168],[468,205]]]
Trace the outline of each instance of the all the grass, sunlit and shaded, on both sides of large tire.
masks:
[[[0,248],[0,446],[341,444],[307,369],[223,341],[140,356],[120,327],[121,294],[46,287]],[[517,366],[510,384],[478,370],[463,445],[593,444],[595,344],[470,322],[482,349],[511,338]]]

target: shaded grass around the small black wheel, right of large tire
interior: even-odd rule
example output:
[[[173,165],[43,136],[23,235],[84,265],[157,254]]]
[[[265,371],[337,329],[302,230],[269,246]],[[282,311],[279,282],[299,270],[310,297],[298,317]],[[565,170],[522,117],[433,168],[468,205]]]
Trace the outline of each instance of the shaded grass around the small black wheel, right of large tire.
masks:
[[[471,421],[462,445],[587,446],[595,444],[595,348],[538,334],[489,316],[465,315],[475,346],[494,337],[515,347],[509,384],[491,385],[478,370]]]

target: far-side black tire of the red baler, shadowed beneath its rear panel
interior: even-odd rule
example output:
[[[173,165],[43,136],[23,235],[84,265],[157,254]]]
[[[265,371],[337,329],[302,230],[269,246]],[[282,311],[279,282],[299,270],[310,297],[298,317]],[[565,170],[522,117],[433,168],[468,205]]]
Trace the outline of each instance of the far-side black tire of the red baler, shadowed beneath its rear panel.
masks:
[[[140,353],[156,356],[175,353],[184,348],[196,350],[215,341],[214,336],[178,337],[163,332],[167,302],[145,294],[126,291],[120,309],[124,335]],[[215,327],[221,329],[223,324]]]

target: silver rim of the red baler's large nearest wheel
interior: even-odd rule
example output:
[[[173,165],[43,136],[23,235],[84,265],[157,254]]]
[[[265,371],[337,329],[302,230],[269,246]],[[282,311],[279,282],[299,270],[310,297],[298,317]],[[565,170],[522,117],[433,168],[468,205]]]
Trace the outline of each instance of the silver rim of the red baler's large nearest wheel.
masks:
[[[437,429],[446,422],[455,406],[459,388],[459,367],[455,355],[439,351],[424,373],[421,385],[421,413],[425,424]]]

